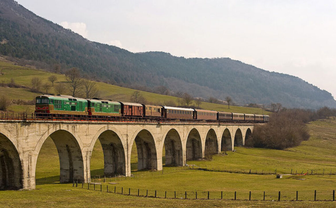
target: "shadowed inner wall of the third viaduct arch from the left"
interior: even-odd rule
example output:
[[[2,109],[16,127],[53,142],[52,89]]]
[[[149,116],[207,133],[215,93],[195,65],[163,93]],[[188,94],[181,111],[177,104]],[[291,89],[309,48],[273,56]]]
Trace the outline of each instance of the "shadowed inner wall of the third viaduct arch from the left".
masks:
[[[126,175],[125,149],[120,137],[112,130],[102,132],[98,140],[104,156],[104,175]]]

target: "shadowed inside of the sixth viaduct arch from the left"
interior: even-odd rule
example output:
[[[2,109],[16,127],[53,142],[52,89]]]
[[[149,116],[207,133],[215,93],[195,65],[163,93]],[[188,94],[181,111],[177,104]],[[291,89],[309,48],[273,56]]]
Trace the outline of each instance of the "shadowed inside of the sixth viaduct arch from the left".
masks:
[[[186,160],[197,160],[203,157],[201,135],[196,128],[193,128],[188,134],[185,157]]]

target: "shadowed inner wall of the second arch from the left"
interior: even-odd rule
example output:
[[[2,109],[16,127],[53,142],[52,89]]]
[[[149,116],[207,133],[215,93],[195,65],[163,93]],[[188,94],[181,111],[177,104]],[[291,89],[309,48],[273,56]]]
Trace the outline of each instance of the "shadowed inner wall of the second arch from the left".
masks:
[[[73,134],[62,129],[51,133],[49,137],[54,142],[58,152],[60,183],[72,182],[74,180],[82,181],[84,179],[84,161],[82,148],[78,140]],[[40,141],[44,142],[46,138]],[[43,143],[37,145],[38,153],[42,145]]]

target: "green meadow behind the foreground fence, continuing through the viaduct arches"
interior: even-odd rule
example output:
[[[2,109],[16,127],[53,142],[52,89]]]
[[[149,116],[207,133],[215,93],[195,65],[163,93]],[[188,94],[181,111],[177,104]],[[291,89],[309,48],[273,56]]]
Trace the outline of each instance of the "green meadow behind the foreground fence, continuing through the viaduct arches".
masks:
[[[107,182],[103,183],[103,188],[106,190],[106,185],[117,187],[117,192],[121,192],[121,187],[128,192],[131,188],[131,194],[135,194],[137,189],[140,189],[140,195],[145,195],[145,190],[149,190],[149,195],[154,196],[157,190],[158,197],[164,197],[167,191],[167,197],[174,197],[173,191],[177,192],[177,197],[184,198],[184,191],[187,191],[188,198],[195,198],[195,192],[198,192],[198,198],[207,198],[207,191],[210,191],[210,199],[219,199],[220,192],[223,191],[223,199],[232,200],[234,192],[237,191],[237,199],[247,200],[249,191],[251,191],[252,200],[262,200],[263,191],[266,192],[265,200],[277,200],[278,191],[281,191],[282,201],[295,200],[296,191],[299,193],[299,200],[313,200],[314,190],[317,190],[317,200],[331,200],[332,190],[335,189],[336,182],[336,121],[333,119],[325,119],[314,121],[308,124],[311,138],[303,142],[300,146],[288,148],[286,150],[269,150],[260,148],[245,148],[238,147],[236,152],[227,152],[227,155],[214,155],[213,159],[188,161],[188,164],[196,164],[202,167],[207,166],[208,169],[220,168],[226,171],[235,171],[245,169],[248,172],[251,169],[252,173],[257,170],[258,174],[237,174],[228,172],[188,170],[181,167],[164,167],[164,173],[161,171],[136,171],[136,148],[132,148],[132,173],[133,178],[108,178]],[[318,175],[306,176],[284,176],[282,179],[276,179],[274,174],[262,175],[271,169],[277,169],[279,173],[290,173],[304,171]],[[323,169],[325,174],[322,175]],[[330,170],[332,175],[329,175]],[[102,178],[98,181],[98,175],[103,174],[103,155],[99,141],[96,142],[91,158],[91,175],[97,176],[97,182],[102,182]],[[63,185],[48,185],[48,181],[43,181],[43,177],[55,179],[59,176],[59,164],[57,150],[51,140],[47,140],[41,149],[38,158],[36,176],[39,178],[37,184],[41,189],[50,189],[53,186]],[[93,180],[93,179],[92,179]],[[169,182],[168,182],[169,181]],[[116,185],[110,185],[108,182],[116,182]],[[78,191],[77,189],[74,191]],[[81,192],[81,190],[80,190]],[[72,192],[73,193],[73,192]],[[125,193],[125,192],[124,192]],[[76,193],[77,194],[77,193]],[[75,195],[76,195],[75,194]],[[86,190],[85,194],[97,194]],[[120,195],[110,194],[109,197],[124,197]],[[144,198],[136,198],[136,200],[146,200]],[[153,199],[148,199],[148,203]],[[165,199],[156,199],[158,201]],[[168,200],[169,201],[169,200]],[[183,200],[181,200],[183,202]],[[181,202],[178,200],[177,203]],[[188,201],[188,200],[187,200]],[[184,203],[184,202],[183,202]],[[190,206],[203,206],[199,200],[188,202]],[[210,202],[206,202],[210,203]],[[218,204],[217,204],[218,203]],[[233,204],[231,204],[233,203]],[[251,206],[271,206],[268,202],[247,202],[247,201],[213,201],[210,204],[213,206],[241,206],[245,203],[251,203]],[[262,203],[262,204],[259,204]],[[315,203],[315,202],[314,202]],[[314,203],[311,206],[314,206]],[[322,203],[322,202],[321,202]],[[209,204],[209,206],[210,206]],[[246,204],[247,205],[247,204]],[[273,204],[278,206],[279,204]],[[308,206],[305,202],[292,204],[283,202],[282,206]],[[333,206],[333,203],[323,202],[316,203],[316,206]],[[129,205],[129,206],[136,206]]]

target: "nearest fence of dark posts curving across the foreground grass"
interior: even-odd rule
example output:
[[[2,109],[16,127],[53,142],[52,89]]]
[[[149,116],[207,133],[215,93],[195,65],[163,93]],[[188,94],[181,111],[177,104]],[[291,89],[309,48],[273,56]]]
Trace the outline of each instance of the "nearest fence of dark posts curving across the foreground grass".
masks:
[[[101,185],[78,184],[73,187],[138,197],[199,199],[199,200],[249,200],[249,201],[335,201],[335,190],[302,191],[163,191]]]

